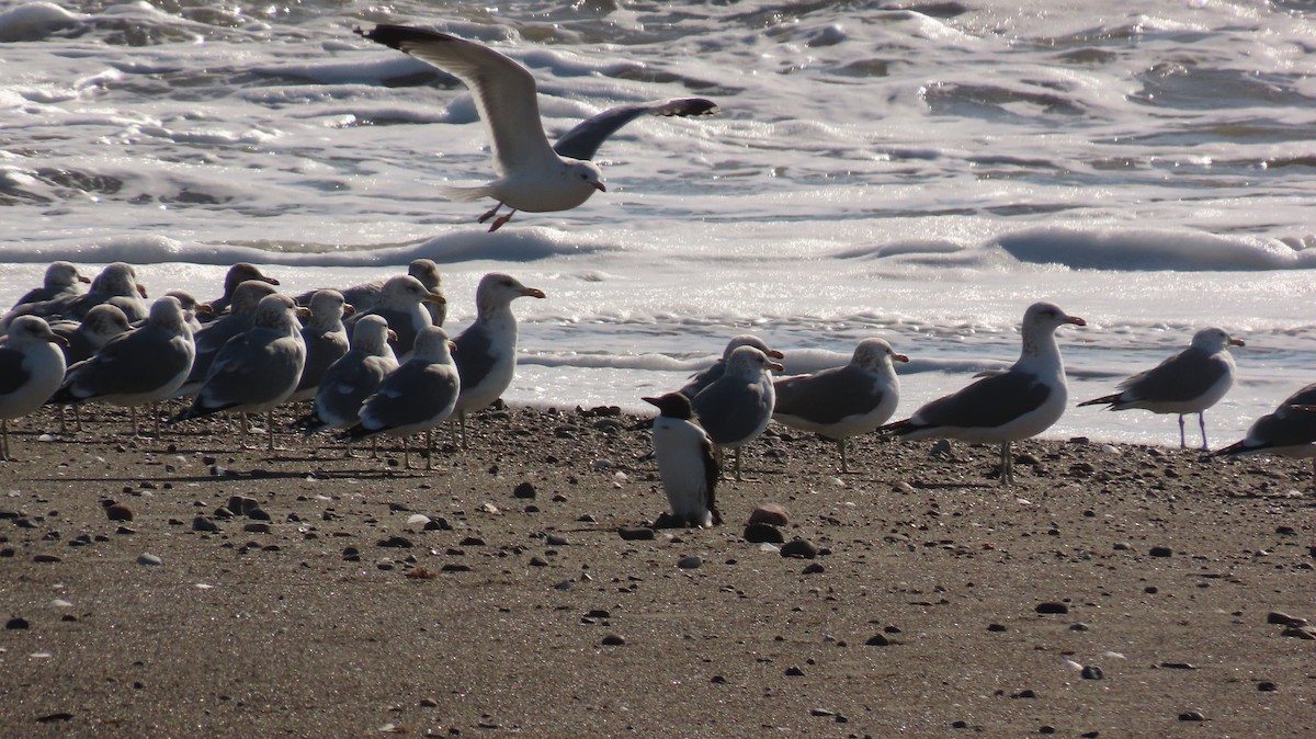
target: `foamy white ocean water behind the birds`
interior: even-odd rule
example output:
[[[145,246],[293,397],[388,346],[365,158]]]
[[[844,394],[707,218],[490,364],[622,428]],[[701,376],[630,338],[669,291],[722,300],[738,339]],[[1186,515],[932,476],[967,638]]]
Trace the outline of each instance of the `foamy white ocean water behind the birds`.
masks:
[[[757,333],[790,372],[869,335],[901,404],[1019,352],[1040,298],[1074,401],[1216,325],[1246,339],[1219,444],[1316,380],[1316,11],[1298,1],[0,5],[0,302],[46,263],[141,266],[207,300],[234,260],[291,291],[440,262],[449,327],[488,271],[521,300],[513,404],[672,389]],[[425,25],[530,68],[555,137],[612,105],[715,100],[601,149],[607,193],[519,213],[466,91],[353,28]],[[1174,443],[1074,408],[1048,434]],[[1190,437],[1191,439],[1192,437]]]

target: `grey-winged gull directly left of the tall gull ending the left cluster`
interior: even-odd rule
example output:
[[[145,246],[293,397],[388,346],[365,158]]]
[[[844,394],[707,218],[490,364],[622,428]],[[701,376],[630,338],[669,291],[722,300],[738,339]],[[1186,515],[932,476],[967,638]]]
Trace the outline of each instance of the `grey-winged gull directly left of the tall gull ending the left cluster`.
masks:
[[[350,443],[379,434],[403,437],[403,462],[411,469],[407,437],[425,431],[425,469],[433,469],[434,426],[453,414],[461,392],[449,343],[438,326],[421,331],[412,358],[384,377],[361,406],[361,422],[338,438]]]

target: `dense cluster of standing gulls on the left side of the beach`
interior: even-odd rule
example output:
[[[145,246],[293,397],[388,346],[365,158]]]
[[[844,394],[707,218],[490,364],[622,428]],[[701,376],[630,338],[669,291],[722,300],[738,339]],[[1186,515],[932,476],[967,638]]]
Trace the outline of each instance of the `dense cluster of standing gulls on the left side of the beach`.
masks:
[[[509,275],[484,275],[475,321],[449,339],[440,325],[446,300],[438,267],[429,259],[379,283],[305,293],[305,305],[246,263],[229,268],[224,295],[207,304],[171,291],[147,308],[136,270],[122,262],[89,280],[86,293],[79,289],[84,280],[75,266],[57,262],[42,288],[0,317],[7,330],[0,346],[4,459],[8,421],[45,404],[130,408],[134,434],[136,409],[150,405],[158,437],[155,404],[191,397],[166,423],[238,413],[245,446],[246,414],[263,413],[272,450],[274,409],[311,400],[311,413],[293,427],[308,435],[337,431],[350,443],[425,433],[432,468],[433,429],[455,416],[465,444],[466,414],[492,404],[512,383],[512,301],[545,297]],[[405,442],[403,448],[411,467]]]

